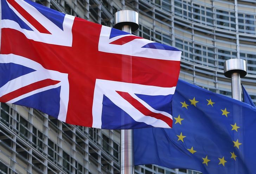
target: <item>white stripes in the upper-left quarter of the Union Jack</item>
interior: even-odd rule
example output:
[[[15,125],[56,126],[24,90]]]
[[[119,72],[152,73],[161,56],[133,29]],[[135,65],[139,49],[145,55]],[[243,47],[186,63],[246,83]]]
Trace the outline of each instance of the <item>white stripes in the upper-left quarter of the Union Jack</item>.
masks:
[[[55,44],[60,46],[72,46],[72,26],[75,16],[65,15],[63,21],[63,30],[55,25],[51,20],[41,14],[35,7],[31,6],[23,0],[15,0],[21,7],[23,7],[28,13],[30,13],[41,25],[43,25],[51,34],[40,33],[38,30],[28,22],[14,7],[12,7],[7,1],[8,6],[13,10],[17,16],[23,20],[33,31],[23,29],[19,24],[12,20],[1,20],[1,28],[12,28],[23,33],[27,39],[31,39],[38,42]]]

